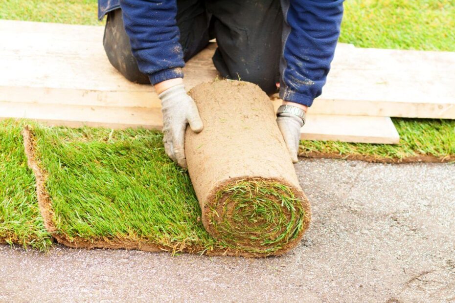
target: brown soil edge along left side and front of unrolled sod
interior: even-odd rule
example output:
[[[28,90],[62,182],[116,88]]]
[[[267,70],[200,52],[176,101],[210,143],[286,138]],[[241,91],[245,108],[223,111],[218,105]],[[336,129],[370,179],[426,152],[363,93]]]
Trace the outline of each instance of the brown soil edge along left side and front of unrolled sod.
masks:
[[[170,252],[175,253],[192,253],[207,256],[230,256],[230,257],[245,257],[245,258],[263,258],[271,255],[252,254],[249,252],[234,250],[234,249],[213,249],[210,251],[205,250],[204,247],[187,246],[187,247],[169,247],[158,244],[151,244],[137,240],[127,240],[122,238],[102,238],[93,239],[91,241],[83,238],[69,239],[64,233],[60,232],[54,225],[52,209],[52,200],[46,190],[47,173],[41,168],[39,159],[36,157],[35,139],[32,130],[29,126],[25,126],[23,131],[24,151],[27,156],[28,167],[33,171],[36,179],[36,193],[38,199],[38,206],[41,216],[43,216],[45,229],[49,234],[57,240],[58,243],[71,248],[102,248],[102,249],[137,249],[146,252]],[[303,233],[302,233],[303,235]],[[289,248],[290,249],[290,248]],[[288,249],[288,250],[289,250]],[[287,251],[287,250],[286,250]],[[285,251],[280,251],[279,254]],[[274,254],[278,255],[278,254]]]

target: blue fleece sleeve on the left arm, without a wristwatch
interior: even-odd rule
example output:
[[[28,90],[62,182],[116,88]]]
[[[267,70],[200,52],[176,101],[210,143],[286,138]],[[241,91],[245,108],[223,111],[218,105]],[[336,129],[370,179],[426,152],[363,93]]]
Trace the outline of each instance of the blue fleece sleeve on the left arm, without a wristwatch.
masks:
[[[120,7],[139,70],[152,84],[183,77],[176,0],[120,0]]]

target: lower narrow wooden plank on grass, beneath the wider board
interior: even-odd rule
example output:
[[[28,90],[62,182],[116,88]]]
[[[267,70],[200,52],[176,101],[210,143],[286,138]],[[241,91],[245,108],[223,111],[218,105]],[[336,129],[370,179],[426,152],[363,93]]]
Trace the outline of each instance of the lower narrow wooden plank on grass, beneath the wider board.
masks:
[[[0,119],[26,118],[52,126],[143,127],[161,129],[160,108],[55,105],[0,102]],[[310,114],[302,128],[303,140],[334,140],[361,143],[398,143],[399,135],[388,117]]]

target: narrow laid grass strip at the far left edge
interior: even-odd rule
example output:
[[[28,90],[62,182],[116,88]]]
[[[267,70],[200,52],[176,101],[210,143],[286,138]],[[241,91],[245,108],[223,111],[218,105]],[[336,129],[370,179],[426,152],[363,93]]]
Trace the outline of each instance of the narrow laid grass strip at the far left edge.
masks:
[[[46,251],[46,231],[35,195],[35,177],[27,167],[21,131],[13,120],[0,121],[0,243]]]

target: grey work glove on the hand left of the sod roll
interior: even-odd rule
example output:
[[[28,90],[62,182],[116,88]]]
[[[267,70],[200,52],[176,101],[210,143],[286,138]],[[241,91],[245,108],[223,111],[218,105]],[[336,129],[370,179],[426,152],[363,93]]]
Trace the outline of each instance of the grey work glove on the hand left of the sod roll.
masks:
[[[170,87],[159,94],[163,113],[164,150],[182,168],[186,167],[185,130],[189,124],[194,132],[203,127],[193,98],[188,96],[183,84]]]

